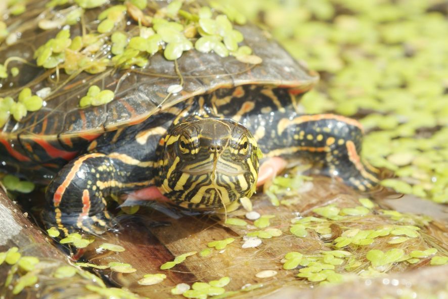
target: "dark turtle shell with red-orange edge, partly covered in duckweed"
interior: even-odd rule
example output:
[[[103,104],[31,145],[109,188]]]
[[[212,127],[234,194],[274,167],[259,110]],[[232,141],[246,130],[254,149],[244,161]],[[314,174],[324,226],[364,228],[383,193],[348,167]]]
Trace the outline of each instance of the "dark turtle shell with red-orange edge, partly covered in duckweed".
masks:
[[[96,28],[97,25],[89,25],[95,23],[98,10],[86,11],[86,28]],[[12,45],[5,42],[0,45],[0,62],[9,57],[31,61],[34,51],[59,32],[59,29],[44,31],[37,27],[38,18],[56,13],[45,10],[44,3],[33,3],[28,11],[9,21],[16,32],[20,32],[20,38]],[[301,94],[317,82],[316,73],[300,65],[259,28],[253,25],[234,28],[244,35],[240,45],[249,46],[262,63],[247,64],[233,56],[220,57],[193,49],[184,52],[177,60],[178,72],[173,61],[158,53],[144,68],[120,70],[109,67],[98,74],[81,72],[70,76],[55,69],[11,62],[11,67],[20,69],[19,75],[2,80],[1,98],[16,99],[24,87],[29,87],[33,94],[44,88],[50,88],[51,93],[40,110],[28,113],[20,122],[11,117],[0,128],[3,164],[9,172],[18,172],[19,167],[57,171],[102,133],[142,122],[160,109],[188,98],[244,84],[279,86]],[[81,35],[82,30],[81,24],[71,26],[71,38]],[[126,30],[132,28],[127,26]],[[178,73],[182,75],[182,91],[169,93],[171,86],[181,82]],[[93,84],[114,91],[114,100],[101,106],[80,108],[80,98]],[[33,177],[40,178],[41,175]]]

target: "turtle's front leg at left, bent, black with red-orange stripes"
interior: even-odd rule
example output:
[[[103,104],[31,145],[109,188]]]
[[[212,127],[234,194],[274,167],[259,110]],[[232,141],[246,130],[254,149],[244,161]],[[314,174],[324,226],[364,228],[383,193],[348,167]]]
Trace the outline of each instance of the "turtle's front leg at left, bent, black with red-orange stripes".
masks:
[[[118,190],[142,188],[152,183],[152,172],[144,167],[147,165],[139,165],[142,163],[145,162],[117,153],[90,153],[71,161],[47,189],[44,222],[66,235],[80,229],[92,234],[104,233],[113,225],[105,198]],[[131,172],[133,177],[144,177],[147,181],[128,182]],[[141,174],[136,176],[136,172]]]

